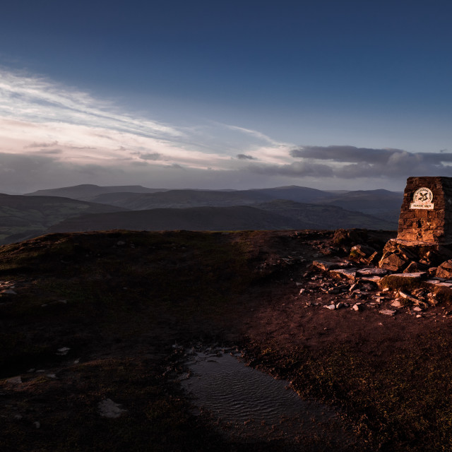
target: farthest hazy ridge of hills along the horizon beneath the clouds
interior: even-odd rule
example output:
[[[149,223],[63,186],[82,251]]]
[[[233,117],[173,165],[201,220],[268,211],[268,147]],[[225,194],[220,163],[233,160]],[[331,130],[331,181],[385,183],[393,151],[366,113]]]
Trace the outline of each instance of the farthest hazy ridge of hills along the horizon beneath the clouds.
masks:
[[[328,204],[346,210],[398,221],[403,193],[388,190],[323,191],[303,186],[283,186],[251,190],[167,190],[142,186],[78,185],[63,189],[40,190],[28,196],[68,196],[80,201],[109,204],[131,210],[154,208],[253,206],[275,199],[297,203]]]

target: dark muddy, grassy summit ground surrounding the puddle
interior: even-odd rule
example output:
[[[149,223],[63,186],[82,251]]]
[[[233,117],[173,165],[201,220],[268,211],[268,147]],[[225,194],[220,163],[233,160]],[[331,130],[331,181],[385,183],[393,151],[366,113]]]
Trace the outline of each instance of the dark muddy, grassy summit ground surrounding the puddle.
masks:
[[[382,248],[393,236],[356,237]],[[451,450],[448,302],[385,315],[394,292],[375,304],[376,286],[322,290],[343,281],[312,261],[352,246],[333,237],[117,231],[0,247],[1,450]],[[184,355],[212,345],[328,404],[340,426],[259,436],[194,415]]]

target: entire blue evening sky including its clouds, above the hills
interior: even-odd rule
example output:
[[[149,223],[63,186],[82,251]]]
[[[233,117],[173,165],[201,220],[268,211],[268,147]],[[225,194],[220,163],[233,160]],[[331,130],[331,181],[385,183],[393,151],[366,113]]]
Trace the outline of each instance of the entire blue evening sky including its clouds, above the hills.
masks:
[[[452,176],[452,3],[15,0],[0,192]]]

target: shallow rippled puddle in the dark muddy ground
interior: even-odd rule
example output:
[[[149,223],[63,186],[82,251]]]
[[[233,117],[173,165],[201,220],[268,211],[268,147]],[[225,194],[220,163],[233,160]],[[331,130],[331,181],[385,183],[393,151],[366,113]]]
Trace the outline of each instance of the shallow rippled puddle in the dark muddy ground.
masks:
[[[242,436],[347,436],[335,410],[302,400],[288,381],[246,366],[230,353],[200,352],[186,363],[181,384],[196,405],[218,424]],[[340,450],[340,447],[337,449]]]

